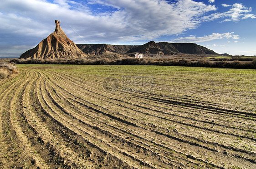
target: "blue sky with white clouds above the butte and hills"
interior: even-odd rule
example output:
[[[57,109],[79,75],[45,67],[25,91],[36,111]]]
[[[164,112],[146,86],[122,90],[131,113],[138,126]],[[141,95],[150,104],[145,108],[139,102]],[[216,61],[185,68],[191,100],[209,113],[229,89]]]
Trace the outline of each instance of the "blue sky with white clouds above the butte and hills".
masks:
[[[20,57],[59,20],[76,44],[197,43],[256,55],[255,0],[0,0],[0,57]]]

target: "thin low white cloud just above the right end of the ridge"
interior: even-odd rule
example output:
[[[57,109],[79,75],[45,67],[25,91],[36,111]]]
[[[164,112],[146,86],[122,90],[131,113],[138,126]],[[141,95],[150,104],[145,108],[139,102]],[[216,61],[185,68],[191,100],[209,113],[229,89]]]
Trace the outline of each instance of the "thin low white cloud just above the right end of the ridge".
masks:
[[[208,42],[215,39],[239,39],[238,35],[234,35],[234,32],[228,32],[224,34],[213,33],[211,35],[196,37],[196,36],[189,36],[189,37],[182,37],[174,39],[172,42]]]

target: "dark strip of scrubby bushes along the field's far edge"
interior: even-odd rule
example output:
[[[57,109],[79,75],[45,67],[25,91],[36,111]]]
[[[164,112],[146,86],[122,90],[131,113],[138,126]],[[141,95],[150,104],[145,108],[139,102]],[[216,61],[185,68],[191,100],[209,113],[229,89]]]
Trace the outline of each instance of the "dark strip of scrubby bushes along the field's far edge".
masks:
[[[226,59],[226,58],[225,58]],[[232,58],[233,59],[233,58]],[[10,63],[16,64],[102,64],[102,65],[159,65],[159,66],[189,66],[189,67],[210,67],[210,68],[243,68],[256,69],[256,58],[246,61],[218,59],[217,61],[208,61],[201,59],[193,61],[189,59],[174,58],[119,58],[110,60],[102,58],[91,60],[88,58],[58,58],[58,59],[12,59]],[[242,59],[241,59],[242,60]]]

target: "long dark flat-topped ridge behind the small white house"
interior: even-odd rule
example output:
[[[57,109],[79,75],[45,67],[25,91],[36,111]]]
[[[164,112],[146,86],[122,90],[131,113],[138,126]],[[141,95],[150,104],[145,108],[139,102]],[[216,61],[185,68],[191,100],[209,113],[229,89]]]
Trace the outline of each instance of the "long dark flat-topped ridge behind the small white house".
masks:
[[[174,55],[179,53],[218,54],[195,43],[155,43],[154,41],[150,41],[143,45],[77,44],[77,47],[89,56],[96,56],[107,51],[118,54],[135,52],[157,55]]]

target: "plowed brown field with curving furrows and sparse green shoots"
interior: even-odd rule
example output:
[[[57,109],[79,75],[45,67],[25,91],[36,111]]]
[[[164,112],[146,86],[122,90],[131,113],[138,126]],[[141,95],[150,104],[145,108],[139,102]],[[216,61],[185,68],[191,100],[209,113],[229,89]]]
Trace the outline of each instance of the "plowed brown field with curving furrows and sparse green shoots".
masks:
[[[256,168],[256,71],[18,65],[0,168]]]

